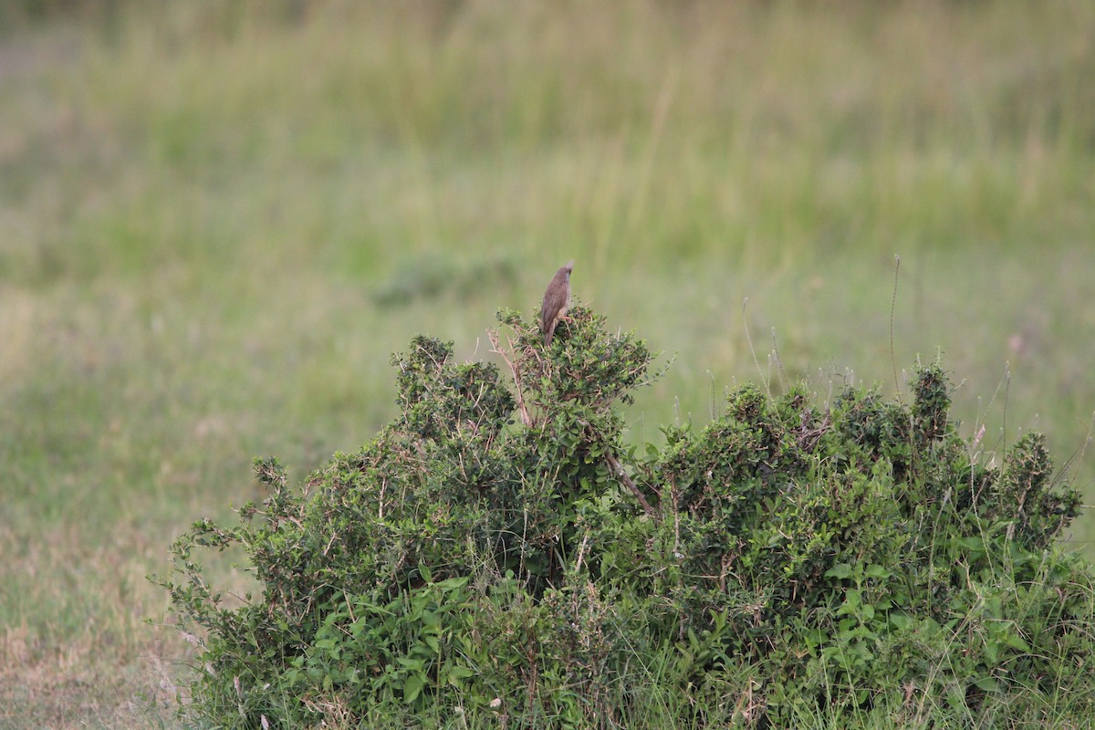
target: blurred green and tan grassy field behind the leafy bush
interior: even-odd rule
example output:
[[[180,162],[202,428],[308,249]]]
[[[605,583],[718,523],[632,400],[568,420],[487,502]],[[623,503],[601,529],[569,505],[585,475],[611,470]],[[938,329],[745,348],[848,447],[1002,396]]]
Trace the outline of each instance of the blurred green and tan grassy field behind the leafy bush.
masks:
[[[635,441],[942,352],[1095,500],[1091,3],[74,4],[0,13],[0,728],[174,727],[174,536],[568,258]]]

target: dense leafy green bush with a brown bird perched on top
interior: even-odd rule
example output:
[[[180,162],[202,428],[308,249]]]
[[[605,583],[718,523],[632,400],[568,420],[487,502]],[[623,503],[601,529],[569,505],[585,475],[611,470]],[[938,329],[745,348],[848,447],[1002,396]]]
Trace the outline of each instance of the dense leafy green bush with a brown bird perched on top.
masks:
[[[155,579],[200,638],[217,727],[791,727],[1095,716],[1093,573],[1054,544],[1079,494],[1041,436],[1002,466],[918,368],[911,404],[747,385],[638,453],[615,409],[657,373],[575,306],[550,347],[499,313],[509,370],[416,337],[400,416]],[[195,547],[242,548],[228,609]],[[1080,721],[1079,719],[1076,720]]]

